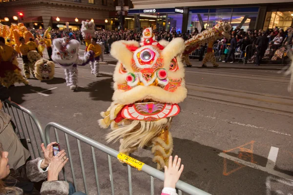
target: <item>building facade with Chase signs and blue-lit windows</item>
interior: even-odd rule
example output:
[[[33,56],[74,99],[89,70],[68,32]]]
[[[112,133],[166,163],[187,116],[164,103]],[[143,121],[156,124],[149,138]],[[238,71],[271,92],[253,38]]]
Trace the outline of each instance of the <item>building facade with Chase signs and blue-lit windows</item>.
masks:
[[[292,0],[132,0],[128,15],[152,17],[139,27],[187,32],[212,27],[226,21],[234,28],[264,29],[293,26]],[[134,21],[134,19],[132,19]],[[154,24],[155,23],[155,24]],[[134,27],[135,22],[133,23]]]

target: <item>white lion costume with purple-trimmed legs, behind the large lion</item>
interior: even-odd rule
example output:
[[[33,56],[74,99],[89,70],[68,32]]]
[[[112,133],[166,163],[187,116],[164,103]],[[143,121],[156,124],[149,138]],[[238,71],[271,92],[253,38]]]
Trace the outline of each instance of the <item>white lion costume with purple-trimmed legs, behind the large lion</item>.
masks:
[[[80,58],[78,54],[80,42],[75,39],[53,39],[53,46],[52,59],[64,68],[67,86],[76,90],[78,88],[77,65],[86,65],[89,59],[94,57],[94,53],[89,51]]]

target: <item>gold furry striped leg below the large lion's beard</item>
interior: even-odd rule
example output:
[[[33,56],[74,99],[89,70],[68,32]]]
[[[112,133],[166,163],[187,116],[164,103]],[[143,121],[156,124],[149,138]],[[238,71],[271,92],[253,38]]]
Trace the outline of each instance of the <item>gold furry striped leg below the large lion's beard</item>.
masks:
[[[157,169],[163,169],[168,166],[169,156],[173,152],[173,139],[168,127],[163,129],[157,137],[152,140],[153,147],[151,152],[154,154],[153,162],[157,162]]]

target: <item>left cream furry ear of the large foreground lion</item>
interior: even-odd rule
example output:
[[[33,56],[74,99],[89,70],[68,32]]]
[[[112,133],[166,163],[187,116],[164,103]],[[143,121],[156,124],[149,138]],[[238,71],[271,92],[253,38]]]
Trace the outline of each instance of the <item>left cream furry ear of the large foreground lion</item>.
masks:
[[[113,42],[110,54],[115,59],[123,63],[126,66],[126,69],[131,70],[131,59],[133,57],[133,53],[126,48],[126,45],[134,45],[139,47],[139,43],[135,40],[120,40]]]

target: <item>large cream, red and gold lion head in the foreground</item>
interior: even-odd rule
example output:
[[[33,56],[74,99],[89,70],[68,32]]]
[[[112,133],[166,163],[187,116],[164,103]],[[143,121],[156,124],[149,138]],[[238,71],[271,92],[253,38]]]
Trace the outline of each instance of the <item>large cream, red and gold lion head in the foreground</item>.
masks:
[[[136,41],[121,40],[112,44],[111,55],[118,59],[113,76],[113,103],[128,106],[129,109],[122,111],[123,117],[128,119],[172,117],[179,113],[177,103],[187,96],[179,57],[185,48],[184,40],[156,42],[151,36],[152,29],[145,31],[148,33],[143,34],[142,47]],[[135,112],[132,112],[133,104]]]

